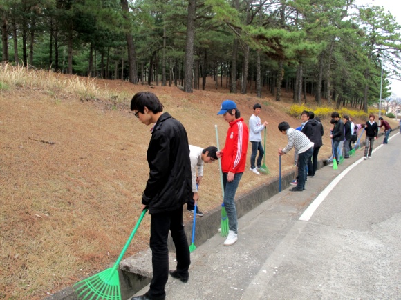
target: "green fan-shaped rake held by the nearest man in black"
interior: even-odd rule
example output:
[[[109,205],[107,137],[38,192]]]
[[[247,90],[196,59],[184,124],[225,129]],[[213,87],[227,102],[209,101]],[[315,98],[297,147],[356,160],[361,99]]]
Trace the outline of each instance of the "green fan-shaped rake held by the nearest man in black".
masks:
[[[127,243],[125,243],[113,267],[75,283],[74,292],[77,299],[121,300],[120,281],[118,279],[117,269],[146,212],[147,209],[142,211],[135,228],[133,228]]]

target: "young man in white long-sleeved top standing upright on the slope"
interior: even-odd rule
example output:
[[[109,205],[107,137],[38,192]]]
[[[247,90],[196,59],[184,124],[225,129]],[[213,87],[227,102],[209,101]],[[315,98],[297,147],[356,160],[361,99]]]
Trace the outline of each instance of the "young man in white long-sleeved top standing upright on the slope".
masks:
[[[260,174],[258,169],[261,168],[262,158],[265,154],[265,150],[262,146],[262,130],[268,126],[268,122],[261,123],[261,118],[259,114],[261,113],[262,106],[259,103],[254,105],[254,113],[249,119],[249,140],[252,143],[252,154],[251,154],[251,167],[250,170],[255,174]],[[257,157],[257,152],[259,151],[257,163],[255,166],[255,159]]]

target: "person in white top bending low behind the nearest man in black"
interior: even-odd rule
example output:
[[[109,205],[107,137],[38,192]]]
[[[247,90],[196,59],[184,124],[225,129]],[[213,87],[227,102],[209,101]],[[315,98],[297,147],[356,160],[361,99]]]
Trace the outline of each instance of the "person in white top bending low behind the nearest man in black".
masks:
[[[205,149],[189,145],[189,159],[191,160],[192,173],[192,199],[187,202],[187,210],[194,213],[195,203],[199,199],[198,186],[201,184],[203,177],[203,163],[214,163],[217,160],[217,148],[209,146]],[[203,213],[196,205],[196,215],[203,217]]]

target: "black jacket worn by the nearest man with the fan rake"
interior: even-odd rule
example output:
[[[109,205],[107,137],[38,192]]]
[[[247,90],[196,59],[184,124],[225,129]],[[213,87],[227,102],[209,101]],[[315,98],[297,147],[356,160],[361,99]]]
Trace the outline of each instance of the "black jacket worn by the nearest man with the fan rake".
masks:
[[[153,127],[147,161],[150,171],[142,203],[149,213],[182,207],[192,197],[188,137],[183,124],[168,112]]]

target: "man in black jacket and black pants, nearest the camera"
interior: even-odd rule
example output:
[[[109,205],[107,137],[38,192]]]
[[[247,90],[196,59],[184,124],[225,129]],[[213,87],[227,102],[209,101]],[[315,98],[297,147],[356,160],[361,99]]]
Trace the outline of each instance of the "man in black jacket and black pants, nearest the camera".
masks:
[[[169,274],[180,281],[189,278],[189,247],[183,226],[183,204],[191,197],[192,174],[189,144],[184,126],[162,112],[163,106],[151,92],[138,92],[131,110],[145,125],[154,123],[147,150],[149,179],[142,194],[142,209],[151,214],[153,277],[148,292],[132,300],[165,299]],[[176,270],[169,271],[167,238],[171,231],[176,246]]]

